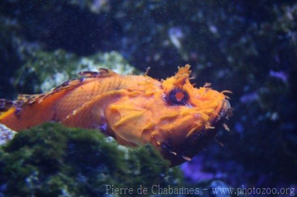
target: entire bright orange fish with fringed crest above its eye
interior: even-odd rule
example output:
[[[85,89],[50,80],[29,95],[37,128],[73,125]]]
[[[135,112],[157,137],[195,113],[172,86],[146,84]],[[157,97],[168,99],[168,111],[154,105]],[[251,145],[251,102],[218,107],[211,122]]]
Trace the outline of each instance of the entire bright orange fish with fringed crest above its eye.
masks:
[[[176,165],[190,160],[212,139],[232,108],[209,83],[196,88],[190,65],[156,80],[110,70],[82,72],[48,93],[0,100],[0,123],[19,131],[47,121],[100,129],[120,144],[151,143]]]

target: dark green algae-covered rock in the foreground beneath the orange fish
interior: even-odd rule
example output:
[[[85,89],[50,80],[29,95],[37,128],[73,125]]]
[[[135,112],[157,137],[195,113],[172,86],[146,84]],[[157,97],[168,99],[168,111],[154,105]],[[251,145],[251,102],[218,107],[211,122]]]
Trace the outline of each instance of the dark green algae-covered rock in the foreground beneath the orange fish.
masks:
[[[178,184],[168,166],[150,145],[127,148],[97,130],[46,123],[1,146],[0,196],[102,196],[106,185]]]

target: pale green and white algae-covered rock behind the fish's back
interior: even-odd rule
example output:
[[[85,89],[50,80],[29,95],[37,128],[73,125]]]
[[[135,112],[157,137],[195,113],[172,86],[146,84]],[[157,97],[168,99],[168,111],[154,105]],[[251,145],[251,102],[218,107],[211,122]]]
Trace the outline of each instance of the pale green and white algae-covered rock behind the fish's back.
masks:
[[[28,92],[46,92],[68,79],[75,79],[81,71],[110,69],[116,73],[138,73],[116,51],[98,52],[88,57],[57,49],[53,52],[39,50],[32,53],[27,63],[18,70],[14,85]]]

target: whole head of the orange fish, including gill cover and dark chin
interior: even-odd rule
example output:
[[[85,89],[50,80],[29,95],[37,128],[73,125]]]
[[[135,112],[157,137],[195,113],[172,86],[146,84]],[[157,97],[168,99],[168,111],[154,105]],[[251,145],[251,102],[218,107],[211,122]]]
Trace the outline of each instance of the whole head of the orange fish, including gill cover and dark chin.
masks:
[[[151,143],[172,165],[194,157],[217,133],[230,113],[224,92],[194,87],[190,65],[175,76],[141,80],[106,111],[117,140],[124,145]]]

